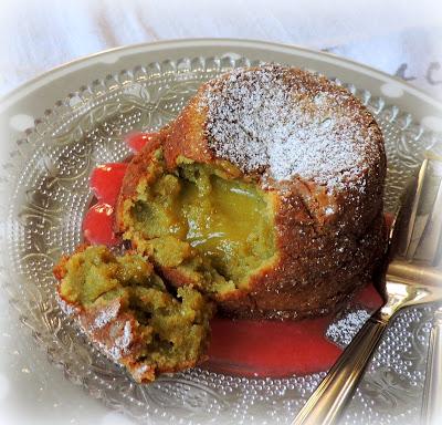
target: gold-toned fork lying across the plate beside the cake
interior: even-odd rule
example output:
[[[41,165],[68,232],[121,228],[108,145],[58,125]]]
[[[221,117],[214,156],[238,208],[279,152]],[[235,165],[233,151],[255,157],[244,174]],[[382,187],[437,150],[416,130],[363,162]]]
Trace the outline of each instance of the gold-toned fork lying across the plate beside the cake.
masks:
[[[396,215],[390,230],[392,260],[387,270],[385,284],[379,288],[383,292],[385,304],[375,312],[354,338],[292,425],[335,424],[351,400],[390,320],[404,308],[442,301],[442,272],[428,265],[417,265],[410,261],[414,259],[420,245],[418,239],[425,234],[422,230],[423,220],[421,220],[420,210],[422,209],[422,195],[428,183],[428,169],[429,159],[425,159],[414,184],[409,186],[408,196],[403,200],[399,214]],[[435,217],[438,208],[441,214],[442,196],[439,205],[431,209],[429,217]],[[438,238],[433,237],[433,240],[440,239],[442,227],[438,231]],[[434,400],[431,391],[428,391],[428,394],[432,394],[432,397],[427,400]],[[431,403],[429,402],[429,404]]]

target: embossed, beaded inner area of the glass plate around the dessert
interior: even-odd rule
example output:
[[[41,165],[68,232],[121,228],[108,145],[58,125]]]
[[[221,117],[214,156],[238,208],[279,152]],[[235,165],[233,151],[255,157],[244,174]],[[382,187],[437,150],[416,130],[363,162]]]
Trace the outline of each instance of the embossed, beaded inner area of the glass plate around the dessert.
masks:
[[[84,340],[54,298],[52,267],[81,241],[93,167],[126,157],[124,134],[161,127],[202,82],[250,64],[248,59],[182,59],[97,80],[46,111],[3,168],[3,184],[15,187],[3,235],[10,257],[6,288],[13,303],[50,361],[72,382],[143,423],[290,423],[324,376],[253,380],[197,367],[137,385]],[[383,99],[338,83],[368,105],[383,131],[386,205],[392,210],[436,137]],[[351,402],[347,423],[418,423],[431,313],[420,308],[397,318]]]

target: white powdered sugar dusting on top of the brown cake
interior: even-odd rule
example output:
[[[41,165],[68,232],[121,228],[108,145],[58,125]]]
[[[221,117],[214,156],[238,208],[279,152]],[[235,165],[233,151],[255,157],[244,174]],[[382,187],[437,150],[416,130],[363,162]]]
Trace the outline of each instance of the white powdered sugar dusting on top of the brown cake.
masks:
[[[275,180],[312,179],[330,188],[355,182],[372,155],[369,128],[351,94],[281,65],[235,70],[209,83],[209,146],[243,172]]]

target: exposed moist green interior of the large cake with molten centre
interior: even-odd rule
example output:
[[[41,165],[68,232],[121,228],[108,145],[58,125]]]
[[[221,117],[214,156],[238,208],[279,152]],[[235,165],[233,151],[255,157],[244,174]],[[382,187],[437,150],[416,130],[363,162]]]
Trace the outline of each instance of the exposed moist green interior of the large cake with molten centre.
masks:
[[[125,238],[140,252],[221,293],[243,288],[271,262],[272,198],[256,184],[185,158],[172,172],[161,160],[150,167],[154,180],[141,180],[124,206]]]

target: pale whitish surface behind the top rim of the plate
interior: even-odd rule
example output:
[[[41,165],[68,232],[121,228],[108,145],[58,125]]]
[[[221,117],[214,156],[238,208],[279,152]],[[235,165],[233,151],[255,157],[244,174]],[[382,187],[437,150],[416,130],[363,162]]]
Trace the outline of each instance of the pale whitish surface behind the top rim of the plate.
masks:
[[[0,94],[103,49],[232,37],[324,49],[442,99],[441,11],[440,0],[2,0]]]

